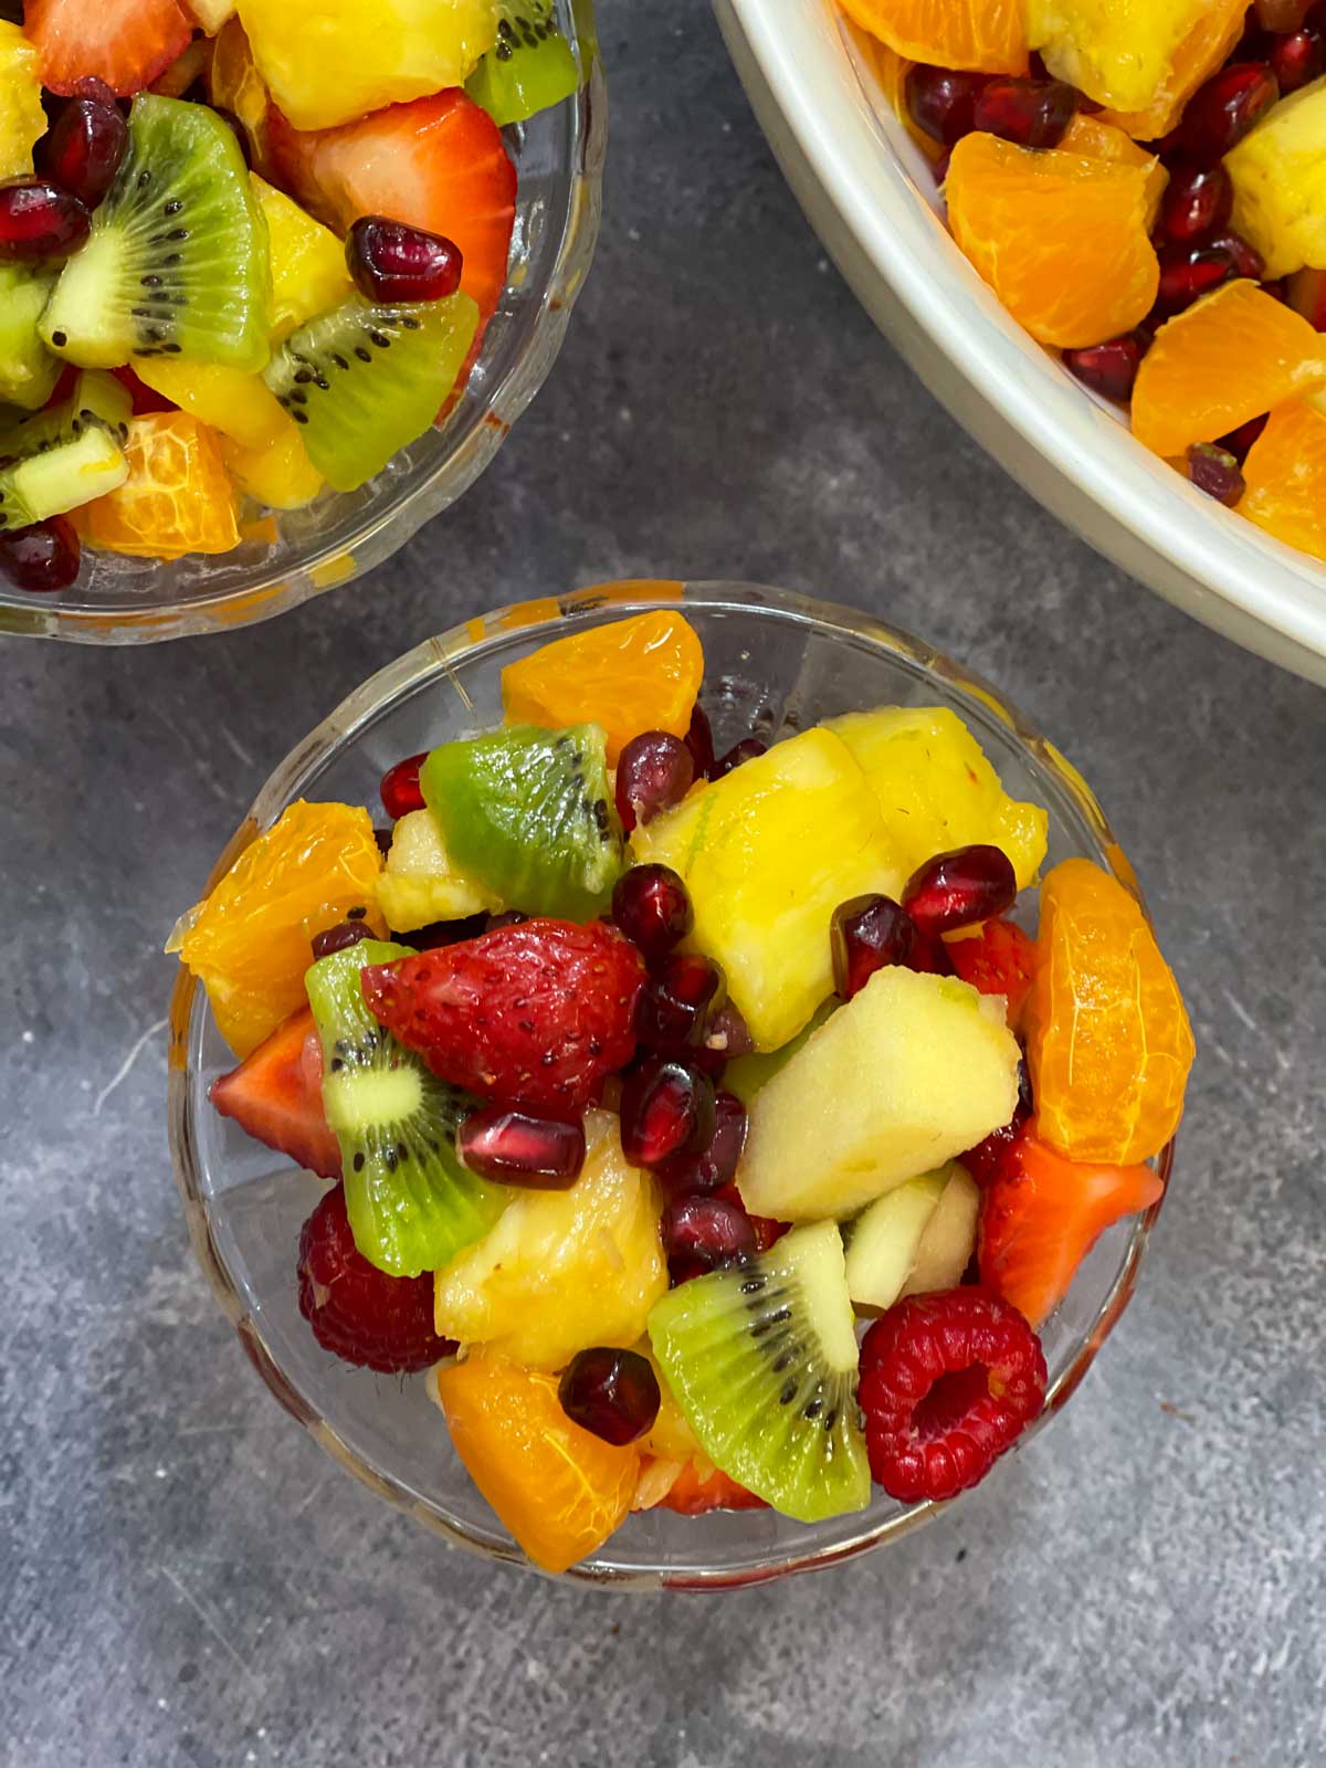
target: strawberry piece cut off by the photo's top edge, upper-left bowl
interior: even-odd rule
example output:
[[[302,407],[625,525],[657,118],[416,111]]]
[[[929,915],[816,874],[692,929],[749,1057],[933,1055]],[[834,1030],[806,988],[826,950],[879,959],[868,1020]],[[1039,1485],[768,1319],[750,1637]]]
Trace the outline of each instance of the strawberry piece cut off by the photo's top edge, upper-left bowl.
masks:
[[[150,87],[193,37],[175,0],[23,0],[23,28],[51,92],[92,74],[118,97]]]

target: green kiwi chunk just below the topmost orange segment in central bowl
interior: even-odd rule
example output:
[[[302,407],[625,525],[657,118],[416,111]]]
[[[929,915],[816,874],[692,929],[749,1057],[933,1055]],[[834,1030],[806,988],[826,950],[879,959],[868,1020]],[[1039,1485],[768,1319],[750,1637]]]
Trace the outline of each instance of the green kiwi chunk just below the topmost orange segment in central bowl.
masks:
[[[599,725],[507,725],[444,743],[419,769],[456,866],[525,914],[589,921],[626,870]]]

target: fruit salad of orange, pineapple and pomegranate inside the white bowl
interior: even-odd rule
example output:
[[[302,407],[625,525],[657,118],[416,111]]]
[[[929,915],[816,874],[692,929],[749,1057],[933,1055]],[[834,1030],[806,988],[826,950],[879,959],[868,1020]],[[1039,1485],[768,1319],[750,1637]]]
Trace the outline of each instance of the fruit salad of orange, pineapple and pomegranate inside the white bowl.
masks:
[[[1326,559],[1326,5],[840,4],[1013,318]]]

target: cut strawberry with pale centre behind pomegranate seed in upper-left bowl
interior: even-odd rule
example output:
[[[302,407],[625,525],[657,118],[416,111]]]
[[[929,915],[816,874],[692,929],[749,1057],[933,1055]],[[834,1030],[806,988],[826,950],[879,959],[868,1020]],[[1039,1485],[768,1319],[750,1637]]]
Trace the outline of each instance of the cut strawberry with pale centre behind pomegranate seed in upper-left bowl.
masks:
[[[516,219],[516,168],[488,111],[460,87],[389,104],[339,129],[299,131],[272,108],[278,182],[347,233],[359,216],[389,216],[454,240],[460,286],[486,322],[506,286]]]

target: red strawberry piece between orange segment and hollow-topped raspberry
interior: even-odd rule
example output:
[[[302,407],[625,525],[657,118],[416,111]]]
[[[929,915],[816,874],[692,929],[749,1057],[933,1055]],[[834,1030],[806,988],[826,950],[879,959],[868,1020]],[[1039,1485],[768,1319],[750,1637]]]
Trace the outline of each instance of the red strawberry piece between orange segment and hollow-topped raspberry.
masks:
[[[981,1202],[979,1271],[987,1289],[1040,1326],[1068,1294],[1100,1234],[1149,1209],[1165,1185],[1151,1167],[1089,1167],[1020,1135]]]

